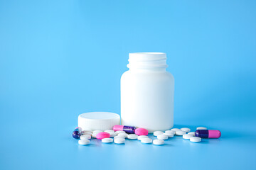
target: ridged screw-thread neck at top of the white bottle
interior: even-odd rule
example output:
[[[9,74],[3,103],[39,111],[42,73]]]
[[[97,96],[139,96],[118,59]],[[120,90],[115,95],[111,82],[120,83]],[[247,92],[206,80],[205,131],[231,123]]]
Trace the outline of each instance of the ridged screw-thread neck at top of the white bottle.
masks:
[[[135,52],[129,53],[127,67],[132,71],[165,72],[166,53],[163,52]]]

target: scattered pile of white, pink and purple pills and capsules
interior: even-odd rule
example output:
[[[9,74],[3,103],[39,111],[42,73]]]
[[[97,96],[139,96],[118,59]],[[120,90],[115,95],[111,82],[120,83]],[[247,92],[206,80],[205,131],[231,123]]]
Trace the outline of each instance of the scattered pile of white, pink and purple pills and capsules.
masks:
[[[201,142],[201,138],[219,138],[221,133],[219,130],[207,130],[205,127],[196,128],[195,132],[191,132],[190,128],[172,128],[171,130],[155,131],[153,135],[157,138],[152,140],[148,136],[149,131],[144,128],[135,128],[133,126],[114,125],[113,130],[82,130],[75,128],[73,137],[78,140],[79,145],[89,145],[92,138],[101,140],[102,143],[124,144],[126,139],[140,140],[144,144],[164,145],[164,140],[168,140],[174,135],[182,136],[184,140],[191,142]]]

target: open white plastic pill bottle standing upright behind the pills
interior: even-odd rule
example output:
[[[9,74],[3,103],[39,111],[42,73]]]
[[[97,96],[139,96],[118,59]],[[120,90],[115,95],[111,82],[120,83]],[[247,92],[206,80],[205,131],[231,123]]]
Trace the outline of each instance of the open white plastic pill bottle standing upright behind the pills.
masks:
[[[129,53],[121,77],[121,123],[149,132],[174,126],[174,77],[166,72],[166,53]]]

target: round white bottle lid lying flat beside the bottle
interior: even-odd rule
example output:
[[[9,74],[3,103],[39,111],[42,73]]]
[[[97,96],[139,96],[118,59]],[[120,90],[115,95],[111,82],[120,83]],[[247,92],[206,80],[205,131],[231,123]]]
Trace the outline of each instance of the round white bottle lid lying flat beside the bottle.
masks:
[[[82,130],[110,130],[120,124],[120,116],[110,112],[89,112],[78,116],[78,127]]]

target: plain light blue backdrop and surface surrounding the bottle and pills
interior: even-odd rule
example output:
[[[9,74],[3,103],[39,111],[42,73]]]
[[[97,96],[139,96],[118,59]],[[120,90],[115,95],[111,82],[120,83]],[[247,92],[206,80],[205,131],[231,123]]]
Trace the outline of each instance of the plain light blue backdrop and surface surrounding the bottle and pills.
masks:
[[[0,169],[256,169],[255,8],[249,0],[0,0]],[[71,132],[80,113],[120,112],[129,52],[167,53],[176,128],[223,136],[79,146]]]

